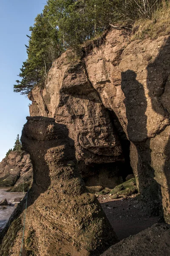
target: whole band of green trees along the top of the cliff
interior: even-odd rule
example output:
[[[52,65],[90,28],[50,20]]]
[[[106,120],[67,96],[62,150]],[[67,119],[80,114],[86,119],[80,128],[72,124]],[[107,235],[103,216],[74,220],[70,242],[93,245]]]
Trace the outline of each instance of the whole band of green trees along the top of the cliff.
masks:
[[[166,0],[47,0],[30,27],[28,58],[14,92],[28,94],[35,85],[43,86],[54,59],[69,47],[79,49],[110,23],[132,25],[139,18],[151,18],[163,2]]]

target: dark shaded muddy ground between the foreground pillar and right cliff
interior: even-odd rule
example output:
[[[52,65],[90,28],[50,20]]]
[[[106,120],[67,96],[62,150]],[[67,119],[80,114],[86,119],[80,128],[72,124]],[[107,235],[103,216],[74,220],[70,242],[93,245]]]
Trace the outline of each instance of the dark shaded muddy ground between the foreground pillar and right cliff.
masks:
[[[159,221],[158,216],[143,215],[136,195],[117,199],[111,195],[99,195],[98,200],[119,240],[136,235]]]

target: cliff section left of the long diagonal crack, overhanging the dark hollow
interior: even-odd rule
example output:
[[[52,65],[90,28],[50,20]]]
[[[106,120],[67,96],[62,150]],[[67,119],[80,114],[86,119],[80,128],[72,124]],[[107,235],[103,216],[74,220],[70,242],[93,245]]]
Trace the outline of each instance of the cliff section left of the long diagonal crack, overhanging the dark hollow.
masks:
[[[109,112],[91,85],[84,63],[67,62],[65,53],[51,68],[44,90],[32,90],[30,115],[54,117],[66,125],[79,161],[89,164],[123,160]]]

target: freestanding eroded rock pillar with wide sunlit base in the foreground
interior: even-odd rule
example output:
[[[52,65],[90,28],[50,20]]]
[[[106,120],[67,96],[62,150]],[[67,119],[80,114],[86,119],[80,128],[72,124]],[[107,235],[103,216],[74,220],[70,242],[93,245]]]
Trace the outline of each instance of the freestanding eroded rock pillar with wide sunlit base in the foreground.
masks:
[[[28,192],[25,250],[36,255],[100,255],[117,241],[95,195],[88,192],[77,170],[74,141],[65,125],[52,118],[28,117],[21,137],[33,164],[33,184]],[[24,209],[24,208],[23,208]],[[23,230],[8,247],[8,234],[16,230],[24,211],[12,222],[0,255],[18,255]],[[12,231],[13,230],[13,231]],[[11,242],[11,241],[10,241]]]

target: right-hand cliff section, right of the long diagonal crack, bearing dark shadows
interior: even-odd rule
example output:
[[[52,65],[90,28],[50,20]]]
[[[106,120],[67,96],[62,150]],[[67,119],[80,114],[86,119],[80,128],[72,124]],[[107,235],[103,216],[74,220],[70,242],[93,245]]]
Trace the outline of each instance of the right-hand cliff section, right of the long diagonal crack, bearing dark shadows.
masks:
[[[85,57],[89,79],[131,142],[139,191],[147,189],[146,200],[155,211],[161,190],[164,217],[170,223],[170,39],[130,42],[117,30],[101,48]]]

